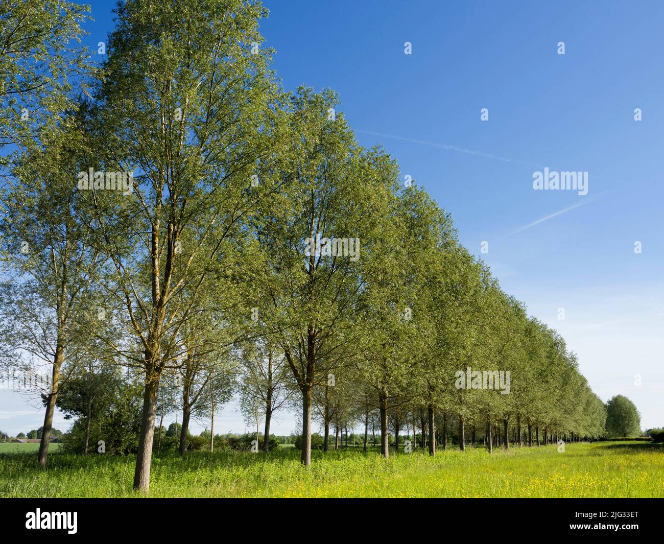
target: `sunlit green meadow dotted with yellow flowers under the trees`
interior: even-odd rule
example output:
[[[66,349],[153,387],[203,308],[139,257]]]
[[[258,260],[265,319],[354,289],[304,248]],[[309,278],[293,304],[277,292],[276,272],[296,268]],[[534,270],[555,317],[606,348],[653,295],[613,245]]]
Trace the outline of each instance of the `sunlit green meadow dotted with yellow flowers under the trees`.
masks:
[[[135,458],[0,454],[0,497],[132,497]],[[465,452],[263,454],[192,452],[154,458],[152,497],[664,497],[664,446],[596,442]]]

